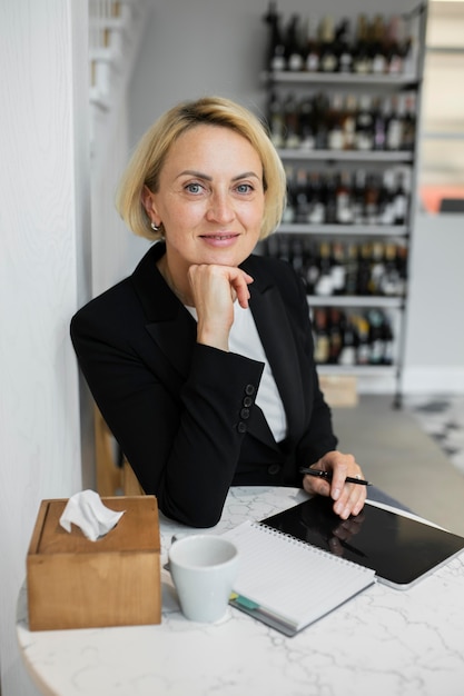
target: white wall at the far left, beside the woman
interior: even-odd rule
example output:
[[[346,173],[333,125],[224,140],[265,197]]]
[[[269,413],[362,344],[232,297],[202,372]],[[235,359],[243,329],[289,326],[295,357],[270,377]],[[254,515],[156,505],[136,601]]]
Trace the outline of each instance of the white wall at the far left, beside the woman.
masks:
[[[1,693],[29,696],[16,638],[27,548],[40,500],[82,486],[68,326],[88,278],[87,8],[3,1],[0,27]]]

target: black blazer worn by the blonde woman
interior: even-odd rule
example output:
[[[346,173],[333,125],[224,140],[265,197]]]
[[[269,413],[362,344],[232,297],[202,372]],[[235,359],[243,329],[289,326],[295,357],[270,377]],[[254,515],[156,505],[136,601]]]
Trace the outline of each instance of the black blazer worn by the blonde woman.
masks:
[[[78,360],[105,420],[144,490],[168,517],[208,527],[231,485],[300,486],[298,466],[335,449],[319,390],[302,281],[250,256],[250,308],[282,396],[288,437],[277,444],[257,405],[261,362],[196,342],[196,321],[156,266],[154,245],[135,272],[71,321]]]

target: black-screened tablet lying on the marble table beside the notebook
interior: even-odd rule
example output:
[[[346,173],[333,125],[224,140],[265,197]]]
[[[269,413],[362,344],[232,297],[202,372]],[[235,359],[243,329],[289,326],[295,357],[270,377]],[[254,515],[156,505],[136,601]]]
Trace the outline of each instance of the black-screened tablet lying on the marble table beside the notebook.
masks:
[[[297,539],[375,570],[377,579],[405,589],[464,549],[464,538],[389,509],[366,504],[342,520],[333,500],[315,496],[261,520]]]

